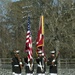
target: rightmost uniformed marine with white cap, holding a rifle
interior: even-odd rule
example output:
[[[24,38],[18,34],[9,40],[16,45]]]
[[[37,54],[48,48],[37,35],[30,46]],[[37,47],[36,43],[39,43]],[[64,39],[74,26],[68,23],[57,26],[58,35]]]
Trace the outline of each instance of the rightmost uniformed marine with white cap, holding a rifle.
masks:
[[[50,75],[57,75],[57,59],[55,51],[51,51],[51,56],[48,58],[47,65],[49,66]]]

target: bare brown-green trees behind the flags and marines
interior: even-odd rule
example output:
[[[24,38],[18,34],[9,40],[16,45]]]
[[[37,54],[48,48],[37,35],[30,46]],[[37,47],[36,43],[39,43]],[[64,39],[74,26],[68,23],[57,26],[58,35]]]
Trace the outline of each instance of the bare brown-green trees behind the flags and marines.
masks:
[[[75,58],[75,0],[0,0],[0,57],[19,49],[24,57],[27,17],[30,15],[33,57],[41,14],[44,15],[45,53],[59,50],[61,58]]]

